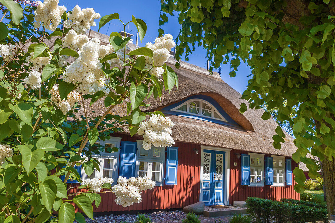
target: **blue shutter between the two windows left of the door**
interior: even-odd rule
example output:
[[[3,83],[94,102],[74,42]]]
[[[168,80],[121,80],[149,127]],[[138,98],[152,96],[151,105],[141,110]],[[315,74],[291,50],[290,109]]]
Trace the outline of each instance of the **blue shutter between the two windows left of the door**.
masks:
[[[136,142],[121,141],[120,176],[135,176]]]

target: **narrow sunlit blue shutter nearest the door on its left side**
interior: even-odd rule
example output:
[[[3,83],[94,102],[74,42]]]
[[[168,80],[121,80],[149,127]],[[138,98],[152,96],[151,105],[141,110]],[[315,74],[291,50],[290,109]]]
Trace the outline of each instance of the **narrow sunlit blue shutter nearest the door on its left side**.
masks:
[[[178,147],[167,147],[165,184],[177,184]]]

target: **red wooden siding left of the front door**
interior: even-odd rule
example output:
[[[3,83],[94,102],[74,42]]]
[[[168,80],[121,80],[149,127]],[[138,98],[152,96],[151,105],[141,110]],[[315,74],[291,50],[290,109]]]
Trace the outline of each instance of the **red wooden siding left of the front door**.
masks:
[[[122,137],[122,141],[136,141],[129,135],[114,134]],[[100,194],[101,203],[97,209],[93,205],[93,211],[132,211],[150,209],[173,209],[183,208],[187,205],[199,202],[200,190],[200,152],[195,154],[194,148],[201,151],[200,145],[177,142],[178,147],[178,178],[177,185],[163,185],[153,190],[142,192],[142,202],[123,208],[115,203],[113,193]],[[166,154],[165,154],[166,157]],[[165,161],[166,162],[166,161]],[[165,174],[165,164],[163,173]],[[164,180],[165,181],[165,180]],[[69,191],[69,194],[74,193]],[[77,208],[76,208],[77,209]],[[77,209],[78,211],[78,209]]]

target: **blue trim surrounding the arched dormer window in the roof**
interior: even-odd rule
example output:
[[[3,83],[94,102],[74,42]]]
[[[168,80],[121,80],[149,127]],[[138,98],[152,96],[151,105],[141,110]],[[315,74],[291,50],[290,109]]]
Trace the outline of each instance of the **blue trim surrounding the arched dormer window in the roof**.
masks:
[[[207,118],[207,117],[204,117],[204,116],[192,115],[191,113],[182,113],[182,112],[178,112],[178,111],[171,111],[171,109],[183,104],[184,102],[186,102],[190,99],[202,99],[202,100],[208,101],[209,103],[211,103],[217,109],[217,111],[220,113],[220,115],[227,120],[227,122],[217,120],[217,119],[212,119],[210,117]],[[177,103],[174,103],[174,104],[171,104],[169,106],[166,106],[166,107],[162,108],[160,111],[162,113],[165,113],[165,114],[183,116],[183,117],[187,117],[187,118],[198,119],[198,120],[203,120],[203,121],[207,121],[207,122],[213,122],[213,123],[218,123],[218,124],[223,124],[223,125],[242,128],[239,124],[237,124],[232,118],[230,118],[228,116],[228,114],[223,110],[223,108],[219,105],[219,103],[217,103],[213,98],[211,98],[207,95],[203,95],[203,94],[197,94],[197,95],[187,97],[184,100],[181,100]]]

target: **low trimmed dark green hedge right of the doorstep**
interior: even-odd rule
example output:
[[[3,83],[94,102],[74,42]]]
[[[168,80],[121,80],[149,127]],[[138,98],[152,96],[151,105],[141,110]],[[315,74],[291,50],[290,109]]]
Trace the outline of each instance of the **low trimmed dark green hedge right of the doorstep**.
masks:
[[[257,223],[300,223],[327,221],[327,209],[302,204],[271,201],[262,198],[247,198],[248,213]]]

